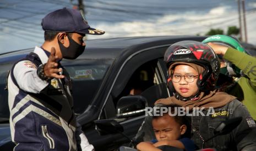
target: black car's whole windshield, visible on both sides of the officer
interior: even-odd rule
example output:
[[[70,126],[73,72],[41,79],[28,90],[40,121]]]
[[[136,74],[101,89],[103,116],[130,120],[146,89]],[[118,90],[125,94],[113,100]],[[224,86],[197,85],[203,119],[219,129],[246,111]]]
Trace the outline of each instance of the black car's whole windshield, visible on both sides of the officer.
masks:
[[[75,113],[82,113],[95,97],[108,68],[113,60],[63,60],[62,65],[69,72],[73,82],[72,94],[74,97]],[[6,80],[8,71],[13,62],[0,65],[0,123],[9,121],[8,91]]]

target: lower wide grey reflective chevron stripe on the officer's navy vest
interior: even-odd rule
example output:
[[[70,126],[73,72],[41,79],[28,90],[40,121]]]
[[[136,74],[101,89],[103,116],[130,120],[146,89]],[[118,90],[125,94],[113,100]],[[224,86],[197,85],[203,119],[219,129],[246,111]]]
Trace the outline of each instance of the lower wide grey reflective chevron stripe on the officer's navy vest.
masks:
[[[43,111],[42,109],[40,109],[36,106],[33,106],[32,104],[30,104],[30,106],[28,106],[26,109],[24,109],[17,117],[15,117],[13,119],[13,125],[15,126],[15,124],[19,120],[23,119],[26,115],[28,115],[32,111],[41,115],[44,118],[47,118],[48,120],[51,120],[52,122],[58,124],[59,126],[62,126],[61,121],[59,119],[53,117],[51,114]]]

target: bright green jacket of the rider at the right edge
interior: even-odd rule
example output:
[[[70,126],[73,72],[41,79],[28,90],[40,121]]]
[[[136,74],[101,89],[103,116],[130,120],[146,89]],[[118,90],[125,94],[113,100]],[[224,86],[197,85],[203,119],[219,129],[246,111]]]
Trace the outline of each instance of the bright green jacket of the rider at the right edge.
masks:
[[[246,74],[227,93],[236,96],[256,119],[256,58],[236,49],[228,48],[224,59],[232,62]]]

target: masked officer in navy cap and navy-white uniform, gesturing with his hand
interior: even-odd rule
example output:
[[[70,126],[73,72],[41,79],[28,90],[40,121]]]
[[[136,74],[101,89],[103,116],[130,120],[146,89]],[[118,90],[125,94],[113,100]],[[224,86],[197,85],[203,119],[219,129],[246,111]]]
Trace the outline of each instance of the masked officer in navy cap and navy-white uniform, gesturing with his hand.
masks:
[[[42,19],[45,42],[13,65],[8,77],[14,150],[94,150],[73,111],[72,82],[62,59],[76,59],[90,28],[79,10],[63,8]]]

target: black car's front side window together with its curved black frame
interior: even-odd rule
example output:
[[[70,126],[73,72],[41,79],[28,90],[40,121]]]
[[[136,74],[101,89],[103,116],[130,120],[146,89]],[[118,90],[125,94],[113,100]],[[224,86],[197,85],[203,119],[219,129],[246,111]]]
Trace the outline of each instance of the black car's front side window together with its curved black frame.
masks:
[[[150,98],[150,104],[159,98],[168,97],[166,90],[162,90],[163,86],[159,86],[161,83],[165,86],[166,78],[163,77],[165,75],[162,74],[159,60],[163,60],[166,49],[167,47],[149,48],[130,57],[113,85],[111,94],[102,108],[100,119],[116,118],[116,105],[123,96],[141,94],[147,97],[146,99]]]

